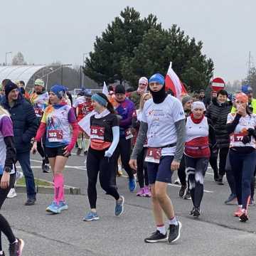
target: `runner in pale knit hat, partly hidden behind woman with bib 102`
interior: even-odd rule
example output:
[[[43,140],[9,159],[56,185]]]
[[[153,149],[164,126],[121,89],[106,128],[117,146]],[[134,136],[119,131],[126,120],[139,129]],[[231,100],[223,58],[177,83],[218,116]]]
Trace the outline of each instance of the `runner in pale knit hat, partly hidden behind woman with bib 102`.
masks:
[[[36,119],[38,120],[38,126],[39,126],[41,119],[43,117],[43,112],[45,111],[48,105],[48,100],[49,100],[49,95],[48,95],[48,92],[46,92],[46,88],[43,80],[37,79],[35,81],[34,92],[32,93],[30,100],[33,105],[33,109],[35,110]],[[48,157],[46,156],[46,137],[45,136],[41,139],[40,142],[38,142],[37,150],[43,159],[43,163],[42,163],[43,172],[49,173],[50,168],[49,168],[49,160],[48,160]]]

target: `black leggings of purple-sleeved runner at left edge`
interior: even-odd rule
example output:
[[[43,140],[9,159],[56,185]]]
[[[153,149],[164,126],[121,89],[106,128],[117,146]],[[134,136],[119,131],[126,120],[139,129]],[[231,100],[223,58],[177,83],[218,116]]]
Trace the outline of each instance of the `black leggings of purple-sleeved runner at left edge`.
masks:
[[[1,177],[2,176],[0,175],[0,181],[1,181]],[[14,182],[15,182],[15,174],[11,174],[9,188],[6,188],[6,189],[0,188],[0,209],[1,209],[1,206],[3,205],[4,201],[6,200],[6,196],[8,195],[10,189],[14,186]],[[1,245],[1,233],[2,232],[4,233],[4,235],[6,235],[6,237],[8,238],[10,243],[15,242],[16,238],[14,236],[14,233],[11,230],[11,227],[10,227],[8,221],[0,213],[0,251],[2,250],[2,245]]]

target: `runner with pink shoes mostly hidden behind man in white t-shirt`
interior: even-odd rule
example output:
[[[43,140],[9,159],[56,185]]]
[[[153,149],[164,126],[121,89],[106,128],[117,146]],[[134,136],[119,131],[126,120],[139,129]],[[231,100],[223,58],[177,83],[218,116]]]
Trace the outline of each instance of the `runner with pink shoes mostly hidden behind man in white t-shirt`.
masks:
[[[134,111],[134,115],[132,116],[132,127],[136,129],[137,132],[139,131],[140,122],[142,121],[142,111],[144,104],[150,98],[150,93],[145,93],[144,95],[142,95],[139,102],[139,110]],[[151,197],[149,178],[146,170],[146,164],[144,163],[146,150],[146,145],[144,145],[142,152],[140,152],[137,157],[137,179],[139,181],[139,191],[137,193],[137,196]]]

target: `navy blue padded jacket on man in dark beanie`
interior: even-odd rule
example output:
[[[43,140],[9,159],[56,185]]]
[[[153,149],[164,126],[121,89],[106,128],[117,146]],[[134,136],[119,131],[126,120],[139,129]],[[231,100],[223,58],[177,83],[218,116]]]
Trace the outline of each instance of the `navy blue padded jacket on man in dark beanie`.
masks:
[[[31,139],[36,136],[36,130],[38,129],[38,121],[32,105],[22,95],[18,95],[14,107],[9,106],[6,97],[2,100],[1,105],[11,114],[17,153],[30,151]]]

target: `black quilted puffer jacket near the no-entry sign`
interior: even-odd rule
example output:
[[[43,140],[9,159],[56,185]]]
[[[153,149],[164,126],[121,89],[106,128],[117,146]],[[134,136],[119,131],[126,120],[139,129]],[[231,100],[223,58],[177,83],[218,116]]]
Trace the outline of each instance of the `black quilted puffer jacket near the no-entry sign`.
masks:
[[[232,105],[228,102],[220,105],[217,100],[213,100],[206,111],[206,117],[213,122],[218,148],[228,147],[230,144],[230,136],[226,129],[226,124],[228,113],[230,113],[231,108]]]

